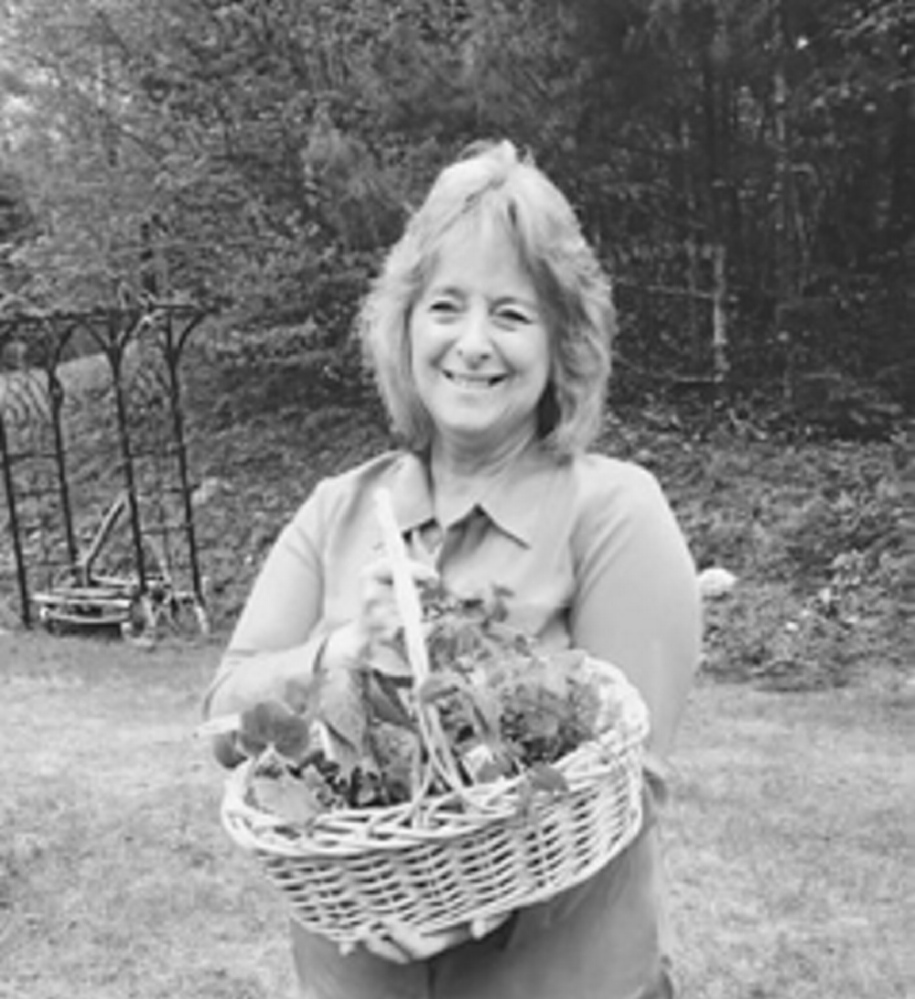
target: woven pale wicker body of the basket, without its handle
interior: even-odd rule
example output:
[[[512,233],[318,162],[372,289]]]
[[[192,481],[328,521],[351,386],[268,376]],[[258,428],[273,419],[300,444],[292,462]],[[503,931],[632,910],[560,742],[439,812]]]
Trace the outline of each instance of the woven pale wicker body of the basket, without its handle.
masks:
[[[523,778],[458,796],[347,809],[296,826],[255,807],[250,764],[230,775],[222,820],[253,851],[308,929],[339,944],[406,925],[425,932],[532,905],[586,880],[642,821],[647,713],[620,681],[622,721],[557,764],[568,790],[537,793]]]

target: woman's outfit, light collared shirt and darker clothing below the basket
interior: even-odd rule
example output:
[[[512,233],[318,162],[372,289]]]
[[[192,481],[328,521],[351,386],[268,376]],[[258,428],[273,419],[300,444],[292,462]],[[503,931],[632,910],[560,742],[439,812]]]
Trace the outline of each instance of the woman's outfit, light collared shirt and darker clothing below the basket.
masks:
[[[408,546],[459,594],[496,585],[509,623],[545,648],[575,647],[622,669],[666,757],[699,658],[695,567],[657,481],[607,456],[525,452],[449,523],[429,468],[384,454],[321,482],[255,583],[208,701],[244,706],[267,667],[306,671],[359,610],[360,572],[383,553],[375,513],[390,490]],[[430,555],[431,553],[431,555]],[[650,793],[648,795],[650,797]],[[584,885],[522,910],[481,941],[399,966],[341,956],[294,924],[305,999],[635,999],[670,994],[662,872],[648,802],[643,833]]]

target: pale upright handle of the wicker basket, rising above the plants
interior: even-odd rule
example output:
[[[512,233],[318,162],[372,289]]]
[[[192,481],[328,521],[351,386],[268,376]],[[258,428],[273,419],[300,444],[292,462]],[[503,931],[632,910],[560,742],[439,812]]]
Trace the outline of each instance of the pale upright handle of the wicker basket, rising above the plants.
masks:
[[[397,525],[397,518],[394,516],[394,502],[387,489],[377,490],[375,507],[384,547],[391,560],[394,599],[404,628],[407,661],[413,673],[413,689],[418,695],[430,673],[429,653],[422,628],[422,605],[416,584],[413,582],[413,574],[410,572],[407,548]],[[442,731],[437,710],[433,705],[423,704],[420,696],[417,696],[416,710],[420,735],[429,753],[433,770],[453,790],[462,790],[464,782],[461,780],[451,747]]]

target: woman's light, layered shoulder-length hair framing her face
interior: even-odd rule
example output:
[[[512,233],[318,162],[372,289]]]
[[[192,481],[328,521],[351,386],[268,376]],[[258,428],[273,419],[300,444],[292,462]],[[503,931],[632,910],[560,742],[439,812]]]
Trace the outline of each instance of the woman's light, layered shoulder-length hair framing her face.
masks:
[[[569,202],[507,141],[476,143],[439,174],[363,304],[359,332],[394,430],[415,451],[431,443],[433,425],[411,369],[410,314],[448,234],[480,218],[504,226],[543,310],[552,357],[540,436],[558,455],[583,450],[600,428],[610,373],[610,283]]]

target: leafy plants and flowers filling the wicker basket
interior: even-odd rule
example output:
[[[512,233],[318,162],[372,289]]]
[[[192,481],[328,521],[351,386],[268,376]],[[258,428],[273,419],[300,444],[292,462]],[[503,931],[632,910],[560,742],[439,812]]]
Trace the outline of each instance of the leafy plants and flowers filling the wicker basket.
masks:
[[[319,673],[289,705],[240,718],[263,808],[309,821],[332,808],[411,802],[500,777],[530,792],[565,788],[555,763],[619,721],[612,684],[583,652],[547,653],[505,623],[504,595],[422,594],[430,672],[416,684],[402,634],[370,646],[361,666]]]

